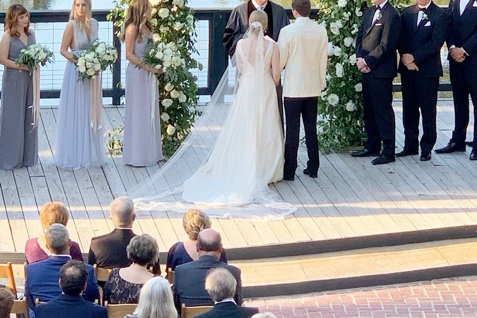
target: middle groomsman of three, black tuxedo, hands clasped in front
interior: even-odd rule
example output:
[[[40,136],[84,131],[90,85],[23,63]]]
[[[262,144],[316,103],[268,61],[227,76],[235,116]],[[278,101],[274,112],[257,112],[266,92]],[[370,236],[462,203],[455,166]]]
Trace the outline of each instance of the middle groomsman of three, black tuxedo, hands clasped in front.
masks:
[[[441,47],[449,26],[448,14],[432,0],[416,0],[404,9],[398,51],[402,83],[404,149],[396,157],[419,153],[419,108],[422,113],[421,161],[431,159],[437,139],[436,107],[442,76]]]

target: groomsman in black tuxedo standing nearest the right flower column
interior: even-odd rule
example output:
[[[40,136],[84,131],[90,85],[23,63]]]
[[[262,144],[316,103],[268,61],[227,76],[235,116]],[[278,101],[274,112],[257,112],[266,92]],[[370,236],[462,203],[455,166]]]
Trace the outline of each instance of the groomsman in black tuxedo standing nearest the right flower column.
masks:
[[[365,11],[356,39],[356,65],[363,73],[364,124],[368,141],[363,150],[352,156],[379,156],[371,163],[384,164],[396,160],[392,103],[400,20],[399,12],[388,0],[371,0],[371,3],[373,6]]]

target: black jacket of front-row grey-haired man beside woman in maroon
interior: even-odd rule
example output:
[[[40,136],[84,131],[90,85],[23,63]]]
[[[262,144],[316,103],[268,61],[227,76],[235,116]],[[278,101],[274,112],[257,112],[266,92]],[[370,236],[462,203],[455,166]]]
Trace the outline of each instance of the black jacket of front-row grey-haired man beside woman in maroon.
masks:
[[[101,268],[128,267],[132,262],[128,258],[126,247],[135,236],[133,230],[114,229],[109,234],[92,238],[88,264],[96,264]],[[153,267],[153,273],[160,274],[159,259]]]

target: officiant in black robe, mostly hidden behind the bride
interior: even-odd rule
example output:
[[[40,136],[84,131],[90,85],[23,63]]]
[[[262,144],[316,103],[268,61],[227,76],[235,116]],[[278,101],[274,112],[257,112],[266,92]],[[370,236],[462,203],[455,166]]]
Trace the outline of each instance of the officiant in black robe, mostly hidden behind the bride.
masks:
[[[240,4],[236,7],[229,18],[224,31],[223,44],[227,54],[232,57],[235,54],[237,42],[245,35],[248,29],[248,18],[255,10],[264,11],[268,17],[268,28],[266,35],[272,38],[275,42],[278,41],[280,30],[290,24],[285,9],[270,0],[249,0],[246,3]],[[283,127],[283,102],[282,102],[282,85],[277,86],[278,107],[280,110],[280,118]]]

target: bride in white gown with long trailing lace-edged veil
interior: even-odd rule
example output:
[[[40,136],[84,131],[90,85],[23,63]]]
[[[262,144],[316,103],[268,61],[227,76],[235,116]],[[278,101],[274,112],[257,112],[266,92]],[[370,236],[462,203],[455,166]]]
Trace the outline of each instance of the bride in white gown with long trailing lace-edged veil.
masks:
[[[223,101],[230,78],[226,72],[179,150],[128,193],[138,208],[184,212],[193,206],[216,217],[267,220],[295,210],[268,187],[283,177],[284,138],[276,93],[279,50],[264,36],[267,22],[265,12],[252,12],[233,58],[235,96]],[[148,190],[155,194],[145,195]]]

